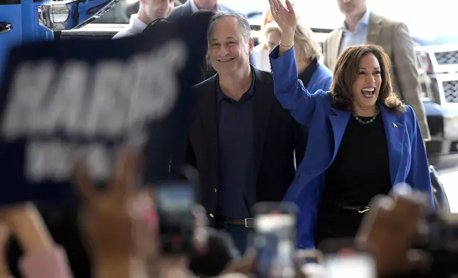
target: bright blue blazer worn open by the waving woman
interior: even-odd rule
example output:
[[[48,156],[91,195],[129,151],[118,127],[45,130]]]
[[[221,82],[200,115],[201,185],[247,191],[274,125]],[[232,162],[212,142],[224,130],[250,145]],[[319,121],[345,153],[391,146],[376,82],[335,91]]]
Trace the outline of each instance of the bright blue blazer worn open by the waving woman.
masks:
[[[294,48],[278,57],[278,47],[270,55],[274,93],[284,109],[309,128],[307,150],[284,201],[294,201],[299,213],[297,239],[299,248],[314,248],[316,211],[324,189],[324,172],[334,161],[351,113],[331,104],[330,95],[321,89],[310,93],[297,79]],[[408,183],[424,191],[434,207],[425,145],[415,113],[406,106],[405,113],[393,113],[380,105],[388,143],[391,184]]]

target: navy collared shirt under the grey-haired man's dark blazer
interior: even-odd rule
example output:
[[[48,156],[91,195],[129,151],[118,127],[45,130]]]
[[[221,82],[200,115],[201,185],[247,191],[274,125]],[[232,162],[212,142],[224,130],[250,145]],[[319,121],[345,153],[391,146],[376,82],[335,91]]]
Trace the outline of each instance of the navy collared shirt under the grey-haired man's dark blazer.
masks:
[[[231,218],[250,218],[256,202],[255,128],[252,84],[235,101],[226,96],[216,81],[218,109],[219,176],[218,207],[220,214]]]

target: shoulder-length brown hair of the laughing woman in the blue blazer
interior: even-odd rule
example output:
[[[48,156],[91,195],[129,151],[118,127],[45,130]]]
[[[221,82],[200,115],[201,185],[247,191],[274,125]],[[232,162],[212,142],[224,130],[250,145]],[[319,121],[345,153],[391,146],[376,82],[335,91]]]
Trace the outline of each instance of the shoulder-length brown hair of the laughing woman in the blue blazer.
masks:
[[[393,91],[391,84],[390,57],[385,50],[378,45],[360,45],[346,48],[336,62],[334,77],[331,84],[330,94],[334,96],[334,106],[337,109],[353,111],[353,83],[358,77],[361,59],[369,54],[376,56],[380,64],[382,84],[378,99],[381,104],[393,112],[405,112],[405,106]]]

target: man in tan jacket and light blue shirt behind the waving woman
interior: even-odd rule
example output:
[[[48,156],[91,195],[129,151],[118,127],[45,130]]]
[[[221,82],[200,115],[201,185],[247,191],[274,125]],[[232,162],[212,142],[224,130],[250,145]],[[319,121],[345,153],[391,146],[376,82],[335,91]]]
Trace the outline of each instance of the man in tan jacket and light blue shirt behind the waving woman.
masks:
[[[343,27],[333,30],[324,42],[324,65],[334,70],[340,52],[351,45],[372,43],[383,47],[393,62],[391,76],[395,92],[415,111],[423,140],[430,140],[408,27],[368,11],[366,0],[337,1],[345,15],[345,22]]]

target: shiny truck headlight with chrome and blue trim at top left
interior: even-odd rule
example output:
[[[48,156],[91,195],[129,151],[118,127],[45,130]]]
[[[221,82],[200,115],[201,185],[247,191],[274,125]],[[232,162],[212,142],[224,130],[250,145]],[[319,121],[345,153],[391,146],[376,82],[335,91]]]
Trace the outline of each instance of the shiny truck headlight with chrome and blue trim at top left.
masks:
[[[53,1],[38,6],[41,26],[53,31],[80,28],[111,9],[119,0]]]

